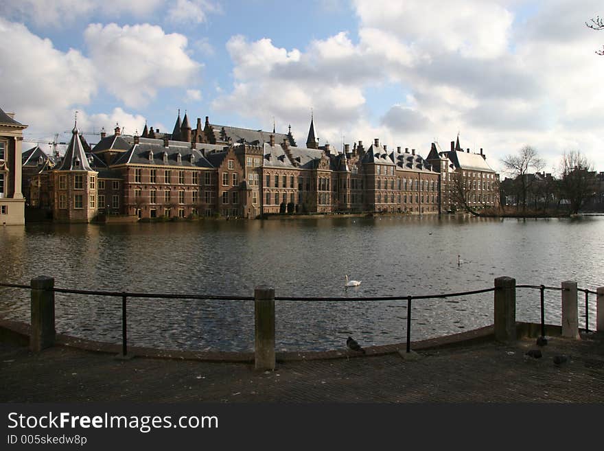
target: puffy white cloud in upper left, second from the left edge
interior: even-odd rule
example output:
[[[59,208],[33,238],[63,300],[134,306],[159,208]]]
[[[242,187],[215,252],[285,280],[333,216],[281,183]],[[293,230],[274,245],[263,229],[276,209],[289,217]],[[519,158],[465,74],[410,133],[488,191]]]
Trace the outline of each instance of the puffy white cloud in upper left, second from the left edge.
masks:
[[[98,76],[126,106],[148,104],[158,89],[184,86],[200,68],[186,53],[185,36],[156,25],[91,24],[84,39]]]

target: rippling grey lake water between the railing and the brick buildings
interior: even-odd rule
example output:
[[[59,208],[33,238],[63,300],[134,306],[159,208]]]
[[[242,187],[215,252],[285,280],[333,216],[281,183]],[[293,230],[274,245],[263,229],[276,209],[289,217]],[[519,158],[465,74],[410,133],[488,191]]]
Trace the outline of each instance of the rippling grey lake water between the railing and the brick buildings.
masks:
[[[462,264],[458,265],[460,255]],[[438,294],[517,284],[604,286],[604,217],[456,216],[231,220],[142,224],[28,224],[0,229],[0,281],[55,277],[58,288],[280,297]],[[344,288],[345,275],[362,281]],[[27,290],[0,288],[0,315],[29,321]],[[579,323],[584,326],[579,293]],[[539,290],[518,289],[517,319],[539,321]],[[560,322],[546,292],[546,322]],[[277,350],[406,340],[406,301],[277,301]],[[590,298],[590,328],[596,321]],[[56,294],[57,331],[120,343],[121,299]],[[413,303],[412,340],[493,323],[493,293]],[[130,345],[251,351],[253,302],[130,299]]]

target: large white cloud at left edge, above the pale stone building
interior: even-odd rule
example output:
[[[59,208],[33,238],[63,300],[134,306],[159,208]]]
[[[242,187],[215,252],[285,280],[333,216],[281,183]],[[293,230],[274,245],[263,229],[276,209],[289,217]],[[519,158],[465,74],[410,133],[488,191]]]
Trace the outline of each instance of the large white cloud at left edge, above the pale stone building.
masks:
[[[62,52],[24,25],[0,18],[0,98],[27,132],[54,132],[73,122],[75,105],[91,102],[97,92],[95,69],[79,51]],[[65,125],[63,125],[65,126]]]

